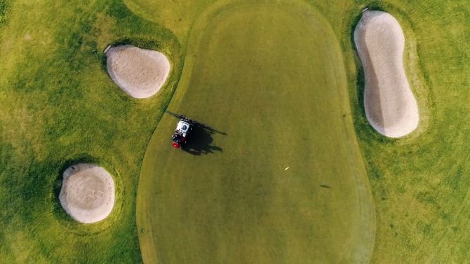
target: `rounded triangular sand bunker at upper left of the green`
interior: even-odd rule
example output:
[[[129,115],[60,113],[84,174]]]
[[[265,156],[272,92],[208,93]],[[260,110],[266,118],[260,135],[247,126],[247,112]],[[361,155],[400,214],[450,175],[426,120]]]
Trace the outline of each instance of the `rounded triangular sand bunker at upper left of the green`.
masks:
[[[147,98],[155,95],[170,72],[170,62],[163,53],[131,45],[107,48],[107,71],[128,95]]]

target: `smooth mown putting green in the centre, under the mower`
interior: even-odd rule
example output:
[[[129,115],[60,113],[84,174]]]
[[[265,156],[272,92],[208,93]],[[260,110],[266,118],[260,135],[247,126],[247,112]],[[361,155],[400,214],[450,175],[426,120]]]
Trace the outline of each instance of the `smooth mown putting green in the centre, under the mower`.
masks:
[[[366,262],[373,203],[328,22],[292,1],[227,4],[189,41],[169,110],[227,135],[184,151],[177,120],[159,123],[137,191],[144,261]]]

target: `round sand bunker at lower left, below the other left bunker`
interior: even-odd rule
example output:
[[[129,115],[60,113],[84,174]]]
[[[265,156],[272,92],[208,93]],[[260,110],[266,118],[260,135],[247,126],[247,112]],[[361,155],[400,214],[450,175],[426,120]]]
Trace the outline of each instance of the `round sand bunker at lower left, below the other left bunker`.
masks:
[[[79,163],[63,174],[59,200],[67,214],[82,223],[105,219],[114,205],[112,176],[93,164]]]

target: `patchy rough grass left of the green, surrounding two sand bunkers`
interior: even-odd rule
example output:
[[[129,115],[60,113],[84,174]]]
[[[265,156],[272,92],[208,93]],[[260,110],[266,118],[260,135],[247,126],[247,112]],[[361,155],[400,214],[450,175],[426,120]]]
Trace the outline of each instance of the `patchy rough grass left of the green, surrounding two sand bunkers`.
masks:
[[[167,29],[133,15],[121,1],[4,3],[2,261],[140,262],[137,179],[147,141],[179,79],[180,44]],[[109,43],[130,43],[168,56],[173,71],[159,95],[132,99],[112,82],[102,54]],[[61,173],[75,162],[96,163],[114,177],[116,203],[104,221],[77,223],[60,207]]]

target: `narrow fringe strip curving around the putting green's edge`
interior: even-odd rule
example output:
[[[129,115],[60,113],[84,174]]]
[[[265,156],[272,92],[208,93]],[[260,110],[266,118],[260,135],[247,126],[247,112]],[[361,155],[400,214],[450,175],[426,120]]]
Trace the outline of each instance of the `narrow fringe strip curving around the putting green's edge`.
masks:
[[[287,0],[283,0],[283,1],[287,1]],[[320,13],[318,13],[318,11],[316,11],[314,6],[311,6],[307,4],[306,2],[299,1],[299,0],[292,0],[290,2],[293,2],[297,5],[307,8],[309,11],[312,11],[318,14],[318,18],[321,18],[323,20],[322,22],[325,25],[325,27],[328,27],[328,29],[331,32],[333,32],[333,28],[331,27],[330,23],[327,20],[325,20],[323,15],[321,15]],[[211,6],[206,8],[206,11],[204,11],[201,15],[199,15],[199,18],[196,19],[196,21],[194,22],[194,25],[192,25],[191,32],[189,32],[189,38],[188,38],[187,48],[186,48],[187,53],[184,57],[184,67],[182,69],[180,81],[177,83],[177,88],[175,90],[175,93],[173,94],[173,97],[170,100],[170,103],[168,104],[168,109],[177,111],[177,109],[180,108],[180,105],[184,99],[184,95],[187,89],[189,88],[189,82],[191,81],[191,78],[192,78],[192,71],[193,71],[193,67],[196,62],[196,57],[197,57],[195,53],[197,49],[194,48],[194,46],[198,46],[199,41],[201,39],[201,32],[203,32],[204,29],[208,27],[211,20],[218,13],[221,13],[227,8],[232,8],[234,6],[238,6],[239,4],[243,4],[243,3],[246,3],[246,1],[245,0],[217,1],[215,2],[215,4],[212,4]],[[354,27],[352,27],[351,30],[354,30]],[[344,49],[340,48],[341,43],[340,41],[337,40],[337,36],[335,34],[333,34],[333,36],[336,40],[336,45],[338,46],[338,50],[341,50],[341,52],[344,53]],[[354,53],[354,50],[351,50],[351,52]],[[344,65],[343,57],[341,57],[341,63]],[[354,62],[352,63],[354,64]],[[344,68],[344,71],[345,69],[346,68]],[[344,78],[349,78],[349,76],[347,76],[347,74],[345,73]],[[347,113],[353,113],[354,110],[351,109],[351,98],[350,98],[351,96],[349,95],[349,93],[351,93],[351,89],[349,88],[344,88],[344,89],[347,90],[347,95],[348,95],[346,102],[349,102],[349,104],[347,104],[347,108],[348,108]],[[358,154],[358,160],[363,160],[363,154],[358,153],[358,151],[360,152],[361,148],[359,147],[359,144],[358,144],[358,135],[356,134],[357,127],[356,125],[354,125],[353,119],[355,120],[355,118],[353,118],[351,114],[348,114],[346,118],[344,118],[344,127],[349,126],[353,128],[352,130],[353,135],[351,135],[351,139],[354,139],[354,141],[348,142],[349,144],[347,144],[347,148],[351,151],[351,153]],[[158,127],[159,125],[156,126],[156,129],[158,129]],[[142,160],[142,167],[141,167],[140,176],[139,176],[139,184],[137,186],[137,204],[136,204],[137,235],[139,239],[142,260],[144,260],[145,263],[159,263],[159,253],[154,244],[152,219],[151,219],[150,214],[148,213],[149,202],[152,202],[152,201],[147,201],[144,198],[144,197],[149,196],[149,193],[152,192],[152,189],[151,189],[152,186],[148,184],[151,181],[151,179],[147,176],[150,175],[149,172],[152,172],[154,170],[154,162],[150,162],[150,161],[154,157],[155,153],[158,152],[158,146],[157,144],[154,144],[157,141],[159,141],[159,139],[156,138],[156,133],[152,134],[152,137],[149,140],[149,143],[147,144],[147,150],[145,151],[144,158]],[[363,170],[364,172],[367,172],[364,162],[361,162],[360,167],[361,167],[361,170]],[[355,175],[361,175],[361,174],[356,173]],[[361,221],[362,223],[361,229],[362,230],[367,229],[367,228],[372,229],[372,232],[369,234],[368,239],[365,239],[368,241],[368,245],[361,247],[361,253],[368,256],[368,260],[370,260],[372,258],[372,252],[375,247],[375,232],[376,232],[375,201],[372,196],[372,188],[370,186],[370,181],[368,179],[367,174],[363,174],[362,177],[355,176],[354,181],[356,181],[357,183],[356,186],[361,186],[361,188],[357,189],[358,197],[360,200],[359,204],[361,204],[361,218],[364,219],[364,221]],[[364,207],[363,204],[370,204],[371,206]]]

